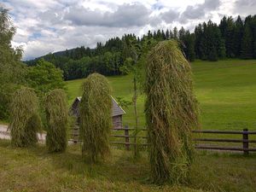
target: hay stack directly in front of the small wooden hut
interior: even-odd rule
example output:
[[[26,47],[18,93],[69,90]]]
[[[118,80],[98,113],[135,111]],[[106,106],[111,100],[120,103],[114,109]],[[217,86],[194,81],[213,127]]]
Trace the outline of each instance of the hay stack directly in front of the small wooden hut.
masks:
[[[85,79],[82,90],[83,96],[79,104],[82,152],[90,162],[96,162],[99,156],[104,158],[109,153],[111,89],[108,79],[93,73]]]

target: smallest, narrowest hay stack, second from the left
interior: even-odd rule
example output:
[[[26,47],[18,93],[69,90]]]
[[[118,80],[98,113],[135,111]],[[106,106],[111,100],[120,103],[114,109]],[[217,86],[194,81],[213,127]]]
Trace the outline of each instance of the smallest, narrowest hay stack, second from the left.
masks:
[[[64,90],[51,90],[44,99],[46,115],[46,146],[49,152],[63,152],[67,148],[68,109]]]

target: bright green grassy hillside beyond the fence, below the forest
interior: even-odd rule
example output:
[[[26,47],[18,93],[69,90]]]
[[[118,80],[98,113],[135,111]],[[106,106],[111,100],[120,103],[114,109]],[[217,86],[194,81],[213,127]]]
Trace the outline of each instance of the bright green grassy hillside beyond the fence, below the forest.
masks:
[[[201,107],[203,129],[256,129],[256,61],[226,60],[218,62],[195,61],[192,63],[195,94]],[[131,101],[131,75],[108,77],[113,96]],[[80,96],[83,79],[67,81],[69,103]],[[144,96],[138,99],[140,125],[144,125]],[[132,106],[125,108],[125,125],[134,125]]]

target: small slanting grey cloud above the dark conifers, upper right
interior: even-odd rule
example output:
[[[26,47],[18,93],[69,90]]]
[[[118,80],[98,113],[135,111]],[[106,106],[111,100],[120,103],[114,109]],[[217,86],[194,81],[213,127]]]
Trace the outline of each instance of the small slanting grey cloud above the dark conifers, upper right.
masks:
[[[203,18],[208,12],[218,9],[220,6],[219,0],[205,0],[204,3],[188,6],[180,16],[180,22],[185,23],[188,20]]]

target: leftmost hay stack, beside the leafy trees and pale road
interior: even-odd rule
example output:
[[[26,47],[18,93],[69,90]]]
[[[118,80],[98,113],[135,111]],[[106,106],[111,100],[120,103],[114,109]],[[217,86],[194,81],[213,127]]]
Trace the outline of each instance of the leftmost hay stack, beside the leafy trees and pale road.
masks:
[[[16,90],[10,105],[9,130],[11,143],[16,147],[32,146],[38,142],[41,120],[38,115],[38,97],[34,90]]]

